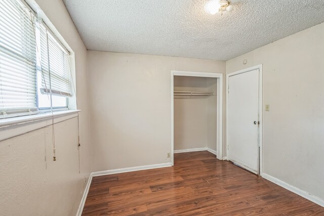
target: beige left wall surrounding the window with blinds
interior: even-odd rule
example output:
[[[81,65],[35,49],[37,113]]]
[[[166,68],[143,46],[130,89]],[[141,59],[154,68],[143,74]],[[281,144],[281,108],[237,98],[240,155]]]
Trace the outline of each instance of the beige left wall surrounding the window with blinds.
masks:
[[[55,125],[55,162],[51,126],[0,142],[0,214],[75,215],[90,175],[87,50],[61,0],[36,2],[75,52],[80,174],[76,118]]]

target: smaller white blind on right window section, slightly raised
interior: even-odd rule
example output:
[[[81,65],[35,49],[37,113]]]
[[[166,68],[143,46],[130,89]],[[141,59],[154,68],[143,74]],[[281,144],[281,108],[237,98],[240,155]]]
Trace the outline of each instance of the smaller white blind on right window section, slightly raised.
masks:
[[[70,97],[69,53],[51,35],[49,30],[39,24],[41,37],[42,94],[50,93]]]

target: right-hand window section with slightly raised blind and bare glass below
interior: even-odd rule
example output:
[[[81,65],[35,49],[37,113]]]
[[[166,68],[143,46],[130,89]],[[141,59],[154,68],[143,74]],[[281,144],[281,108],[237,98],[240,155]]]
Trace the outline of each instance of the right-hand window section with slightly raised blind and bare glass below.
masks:
[[[51,107],[48,95],[52,90],[53,107],[67,107],[65,97],[71,96],[69,53],[42,24],[37,23],[39,37],[38,105],[40,109]],[[39,94],[41,93],[41,94]]]

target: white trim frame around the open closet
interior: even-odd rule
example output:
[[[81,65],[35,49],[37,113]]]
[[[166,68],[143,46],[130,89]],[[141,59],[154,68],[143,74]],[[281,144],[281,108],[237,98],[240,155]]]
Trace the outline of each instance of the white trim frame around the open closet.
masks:
[[[194,71],[171,71],[171,163],[174,165],[174,76],[196,76],[217,78],[217,159],[223,160],[223,74],[194,72]]]

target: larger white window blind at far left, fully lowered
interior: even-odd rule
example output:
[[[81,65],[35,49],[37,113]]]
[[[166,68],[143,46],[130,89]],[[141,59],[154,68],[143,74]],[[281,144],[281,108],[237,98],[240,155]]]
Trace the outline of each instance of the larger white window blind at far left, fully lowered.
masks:
[[[34,16],[0,1],[0,118],[37,111]]]

